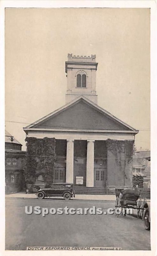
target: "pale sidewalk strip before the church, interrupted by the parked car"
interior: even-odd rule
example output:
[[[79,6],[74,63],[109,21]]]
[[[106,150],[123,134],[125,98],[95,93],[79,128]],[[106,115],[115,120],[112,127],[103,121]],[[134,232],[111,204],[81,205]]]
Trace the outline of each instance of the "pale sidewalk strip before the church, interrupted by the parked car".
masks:
[[[13,198],[37,198],[35,194],[25,194],[25,193],[14,193],[5,195],[6,198],[13,197]],[[115,195],[75,195],[75,198],[72,198],[73,200],[104,200],[104,201],[115,201],[116,196]]]

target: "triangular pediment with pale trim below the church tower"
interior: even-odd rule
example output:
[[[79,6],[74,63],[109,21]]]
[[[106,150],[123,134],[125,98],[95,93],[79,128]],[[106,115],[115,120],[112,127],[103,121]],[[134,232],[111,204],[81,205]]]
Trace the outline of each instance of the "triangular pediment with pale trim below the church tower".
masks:
[[[120,121],[85,97],[79,97],[53,113],[28,125],[26,129],[63,130],[109,130],[133,131],[135,129]]]

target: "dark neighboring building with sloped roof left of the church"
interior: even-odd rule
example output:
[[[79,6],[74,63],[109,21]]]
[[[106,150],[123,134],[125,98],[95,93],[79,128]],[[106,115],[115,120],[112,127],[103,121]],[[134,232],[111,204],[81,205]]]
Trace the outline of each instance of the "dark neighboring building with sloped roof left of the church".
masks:
[[[25,151],[14,137],[5,131],[5,190],[6,193],[18,192],[23,189],[25,167]]]

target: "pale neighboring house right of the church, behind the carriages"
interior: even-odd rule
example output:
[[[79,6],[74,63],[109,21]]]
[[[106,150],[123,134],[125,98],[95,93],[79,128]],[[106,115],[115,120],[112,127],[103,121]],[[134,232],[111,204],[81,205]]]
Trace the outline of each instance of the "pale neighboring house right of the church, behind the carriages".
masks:
[[[150,151],[137,151],[132,162],[133,175],[143,176],[143,188],[150,189]]]

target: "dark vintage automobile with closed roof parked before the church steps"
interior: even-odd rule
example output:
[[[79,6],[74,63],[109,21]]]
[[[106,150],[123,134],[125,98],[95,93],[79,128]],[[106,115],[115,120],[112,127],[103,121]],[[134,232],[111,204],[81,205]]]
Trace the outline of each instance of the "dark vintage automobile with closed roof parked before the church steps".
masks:
[[[55,183],[50,188],[40,188],[37,192],[38,199],[44,199],[45,197],[63,196],[65,200],[70,200],[71,197],[75,197],[73,189],[73,183]]]

